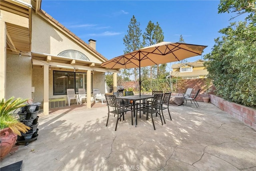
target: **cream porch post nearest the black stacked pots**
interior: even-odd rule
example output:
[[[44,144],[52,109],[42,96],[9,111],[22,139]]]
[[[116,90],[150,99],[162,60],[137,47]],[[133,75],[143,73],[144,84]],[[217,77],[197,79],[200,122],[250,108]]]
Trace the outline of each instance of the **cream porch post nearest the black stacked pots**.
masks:
[[[44,66],[44,115],[49,115],[49,66]]]

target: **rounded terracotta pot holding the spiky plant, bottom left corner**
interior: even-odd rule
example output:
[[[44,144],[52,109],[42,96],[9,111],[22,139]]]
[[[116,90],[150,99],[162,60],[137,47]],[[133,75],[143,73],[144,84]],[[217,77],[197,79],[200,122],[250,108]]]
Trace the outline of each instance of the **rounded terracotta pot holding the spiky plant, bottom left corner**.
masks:
[[[17,135],[10,128],[0,130],[0,159],[4,158],[15,144]]]

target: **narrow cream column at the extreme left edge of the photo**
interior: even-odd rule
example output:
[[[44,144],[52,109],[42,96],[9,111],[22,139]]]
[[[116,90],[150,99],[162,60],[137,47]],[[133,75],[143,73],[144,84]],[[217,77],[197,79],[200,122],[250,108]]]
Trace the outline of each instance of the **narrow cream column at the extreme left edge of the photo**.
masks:
[[[0,20],[0,100],[6,96],[6,25]]]

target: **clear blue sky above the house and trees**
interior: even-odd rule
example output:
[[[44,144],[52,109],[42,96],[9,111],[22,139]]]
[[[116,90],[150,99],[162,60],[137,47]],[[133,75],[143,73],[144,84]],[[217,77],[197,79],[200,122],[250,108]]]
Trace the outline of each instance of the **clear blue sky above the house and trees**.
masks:
[[[236,15],[218,14],[218,4],[209,0],[42,0],[41,8],[85,42],[96,40],[96,50],[111,59],[124,54],[123,38],[133,15],[142,34],[151,20],[159,23],[164,41],[178,42],[182,35],[188,44],[208,46],[204,54],[211,52],[214,38],[221,36],[218,31],[246,17],[244,14],[229,21]],[[187,60],[198,59],[201,56]]]

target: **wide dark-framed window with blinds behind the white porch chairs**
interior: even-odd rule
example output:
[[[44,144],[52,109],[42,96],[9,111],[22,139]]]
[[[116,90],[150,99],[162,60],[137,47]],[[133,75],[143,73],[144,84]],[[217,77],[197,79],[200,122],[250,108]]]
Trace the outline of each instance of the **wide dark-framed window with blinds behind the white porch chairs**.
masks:
[[[74,88],[78,94],[78,88],[87,88],[86,73],[53,71],[53,95],[67,94],[68,88]],[[92,93],[92,74],[91,74]]]

